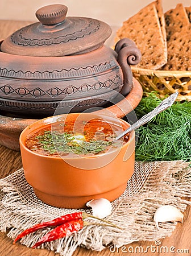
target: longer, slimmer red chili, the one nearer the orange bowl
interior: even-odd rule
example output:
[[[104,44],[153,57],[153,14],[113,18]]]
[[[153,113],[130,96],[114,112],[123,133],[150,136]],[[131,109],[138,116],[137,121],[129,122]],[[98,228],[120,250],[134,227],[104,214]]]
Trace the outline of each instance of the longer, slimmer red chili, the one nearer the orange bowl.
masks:
[[[68,221],[71,221],[71,220],[78,220],[78,219],[82,220],[82,218],[83,218],[82,212],[74,212],[74,213],[66,214],[64,216],[55,218],[55,219],[53,219],[51,221],[47,221],[47,222],[42,222],[40,224],[36,224],[36,225],[32,226],[31,228],[28,228],[28,229],[24,230],[22,233],[20,233],[15,238],[13,243],[16,243],[16,241],[18,241],[20,238],[26,236],[27,234],[33,233],[36,230],[47,228],[48,226],[59,226],[59,225],[64,224],[64,223],[66,223]]]

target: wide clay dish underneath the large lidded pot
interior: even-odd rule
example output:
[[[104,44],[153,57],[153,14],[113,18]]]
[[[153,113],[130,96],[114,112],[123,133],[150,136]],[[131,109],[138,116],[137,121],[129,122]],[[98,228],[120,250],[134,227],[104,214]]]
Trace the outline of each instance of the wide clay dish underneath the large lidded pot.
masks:
[[[142,99],[143,89],[139,82],[133,78],[133,86],[131,92],[121,101],[113,104],[107,108],[98,110],[97,113],[114,114],[115,117],[123,118],[135,109]],[[6,117],[0,115],[0,144],[13,150],[20,150],[19,135],[31,123],[38,121],[38,119],[23,119]]]

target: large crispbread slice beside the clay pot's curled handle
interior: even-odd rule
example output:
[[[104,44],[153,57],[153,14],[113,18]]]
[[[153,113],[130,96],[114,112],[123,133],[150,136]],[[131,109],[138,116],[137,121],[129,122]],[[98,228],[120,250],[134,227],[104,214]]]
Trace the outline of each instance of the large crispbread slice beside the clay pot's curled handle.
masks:
[[[142,52],[142,61],[136,67],[158,69],[167,63],[163,34],[154,3],[144,7],[117,31],[117,38],[130,38]]]

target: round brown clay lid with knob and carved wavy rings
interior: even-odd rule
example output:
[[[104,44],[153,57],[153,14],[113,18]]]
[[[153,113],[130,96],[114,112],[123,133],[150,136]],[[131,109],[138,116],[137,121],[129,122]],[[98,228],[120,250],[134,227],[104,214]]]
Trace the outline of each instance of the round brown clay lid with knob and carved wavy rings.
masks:
[[[20,28],[1,44],[1,51],[25,56],[65,56],[93,51],[111,35],[105,22],[67,17],[67,6],[48,5],[36,11],[40,22]]]

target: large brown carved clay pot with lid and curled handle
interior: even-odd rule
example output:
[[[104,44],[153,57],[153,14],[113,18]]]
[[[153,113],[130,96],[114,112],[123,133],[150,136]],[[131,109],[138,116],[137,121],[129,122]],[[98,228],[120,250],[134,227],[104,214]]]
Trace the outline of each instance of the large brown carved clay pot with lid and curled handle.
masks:
[[[59,104],[63,113],[103,106],[132,89],[130,65],[140,51],[129,39],[115,51],[104,46],[111,28],[90,18],[67,17],[64,5],[36,12],[38,23],[1,42],[0,110],[14,117],[43,118]]]

